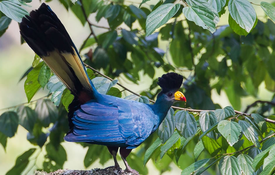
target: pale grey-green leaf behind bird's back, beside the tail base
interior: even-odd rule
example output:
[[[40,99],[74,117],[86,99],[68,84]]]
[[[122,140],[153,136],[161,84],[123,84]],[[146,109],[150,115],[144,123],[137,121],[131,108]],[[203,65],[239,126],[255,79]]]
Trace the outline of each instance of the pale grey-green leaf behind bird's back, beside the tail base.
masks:
[[[111,81],[105,77],[95,77],[92,79],[94,87],[97,89],[99,93],[104,95],[110,90],[111,87],[116,85],[117,81],[118,80]]]

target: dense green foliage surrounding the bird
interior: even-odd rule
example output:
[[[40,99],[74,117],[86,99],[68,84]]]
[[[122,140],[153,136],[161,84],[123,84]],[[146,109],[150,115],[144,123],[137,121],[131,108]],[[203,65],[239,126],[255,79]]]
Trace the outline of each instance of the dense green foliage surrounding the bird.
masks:
[[[138,84],[140,76],[147,75],[152,79],[150,88],[141,92],[142,96],[124,98],[150,103],[160,91],[156,71],[188,74],[181,89],[187,99],[186,106],[175,104],[182,109],[171,108],[158,131],[127,157],[132,168],[147,174],[146,166],[143,167],[152,159],[161,173],[169,171],[172,162],[183,169],[182,175],[199,175],[203,171],[214,174],[216,168],[221,174],[274,173],[275,96],[257,106],[252,114],[247,110],[234,111],[240,110],[241,97],[257,97],[263,81],[267,90],[275,92],[273,5],[258,4],[268,16],[258,20],[253,4],[247,0],[160,0],[149,7],[144,4],[149,0],[142,0],[139,7],[123,0],[79,0],[75,4],[59,1],[83,25],[88,22],[90,26],[91,33],[79,51],[87,64],[88,76],[100,93],[124,97],[124,89],[113,79],[122,76]],[[28,14],[23,6],[29,2],[0,1],[0,36],[11,19],[20,22]],[[219,17],[226,10],[229,26],[217,27]],[[106,18],[109,27],[90,23],[87,17],[92,13],[96,13],[97,22]],[[127,27],[121,28],[122,23]],[[95,36],[93,27],[106,32]],[[159,42],[166,44],[165,51],[159,48]],[[25,80],[28,102],[35,104],[35,108],[22,105],[2,113],[0,143],[6,148],[7,139],[21,125],[29,132],[27,140],[34,147],[18,156],[7,175],[24,171],[29,158],[36,159],[42,147],[47,154],[43,167],[38,169],[47,172],[62,169],[67,153],[60,143],[68,131],[67,111],[73,95],[37,55],[21,80]],[[49,95],[31,101],[40,88],[49,90]],[[214,104],[213,89],[219,94],[226,92],[234,109],[231,106],[221,109],[219,104]],[[85,167],[97,159],[104,164],[112,158],[106,146],[80,144],[89,147]]]

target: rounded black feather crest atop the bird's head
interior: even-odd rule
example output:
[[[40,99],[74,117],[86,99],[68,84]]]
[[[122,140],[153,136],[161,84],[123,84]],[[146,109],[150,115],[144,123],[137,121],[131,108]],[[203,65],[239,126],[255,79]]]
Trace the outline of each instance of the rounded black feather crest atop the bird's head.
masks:
[[[168,92],[169,90],[178,90],[181,87],[183,76],[174,72],[163,74],[159,77],[157,84],[162,88],[162,92]]]

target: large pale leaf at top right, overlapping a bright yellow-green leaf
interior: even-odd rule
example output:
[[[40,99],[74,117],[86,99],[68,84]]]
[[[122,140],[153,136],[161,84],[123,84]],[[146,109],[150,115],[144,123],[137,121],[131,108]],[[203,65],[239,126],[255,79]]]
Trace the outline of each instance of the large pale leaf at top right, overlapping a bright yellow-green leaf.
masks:
[[[231,17],[245,31],[250,32],[254,26],[257,15],[251,3],[247,0],[229,0],[228,10]]]

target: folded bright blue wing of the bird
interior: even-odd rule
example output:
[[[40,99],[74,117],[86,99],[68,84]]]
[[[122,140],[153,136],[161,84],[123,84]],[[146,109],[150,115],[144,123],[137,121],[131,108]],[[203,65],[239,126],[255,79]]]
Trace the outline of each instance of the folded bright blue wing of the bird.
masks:
[[[91,101],[75,111],[73,131],[66,141],[135,148],[151,134],[154,114],[147,105],[106,97],[112,104]]]

